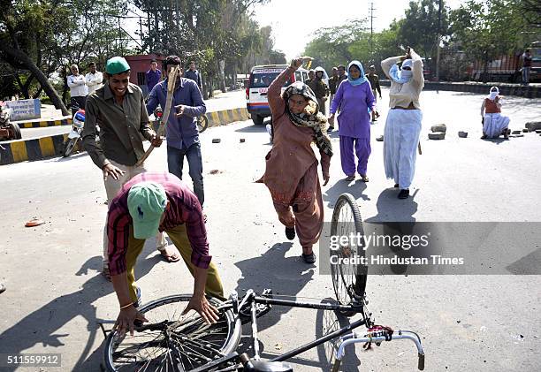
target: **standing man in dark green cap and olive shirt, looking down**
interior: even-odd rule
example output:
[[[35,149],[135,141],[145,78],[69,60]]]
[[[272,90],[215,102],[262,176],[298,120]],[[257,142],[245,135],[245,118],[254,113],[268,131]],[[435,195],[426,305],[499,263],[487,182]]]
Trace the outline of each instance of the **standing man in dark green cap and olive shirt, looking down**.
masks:
[[[124,57],[112,57],[105,66],[107,82],[88,95],[83,145],[92,161],[103,171],[107,200],[133,176],[146,171],[135,164],[145,153],[141,136],[159,147],[162,139],[151,128],[141,88],[130,83],[130,65]],[[96,143],[96,125],[100,142]],[[103,276],[110,278],[107,259],[107,229],[103,230]],[[179,261],[179,254],[169,254],[163,234],[156,236],[156,247],[169,262]]]

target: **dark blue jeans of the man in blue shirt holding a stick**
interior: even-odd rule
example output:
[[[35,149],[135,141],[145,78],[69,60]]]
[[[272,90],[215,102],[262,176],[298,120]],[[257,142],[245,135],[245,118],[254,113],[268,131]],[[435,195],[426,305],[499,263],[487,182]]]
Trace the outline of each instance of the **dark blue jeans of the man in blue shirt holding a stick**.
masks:
[[[167,147],[167,166],[169,172],[182,179],[182,169],[184,168],[184,156],[187,157],[189,174],[194,182],[194,194],[203,206],[205,193],[202,184],[202,156],[201,143],[195,142],[189,148],[171,148]]]

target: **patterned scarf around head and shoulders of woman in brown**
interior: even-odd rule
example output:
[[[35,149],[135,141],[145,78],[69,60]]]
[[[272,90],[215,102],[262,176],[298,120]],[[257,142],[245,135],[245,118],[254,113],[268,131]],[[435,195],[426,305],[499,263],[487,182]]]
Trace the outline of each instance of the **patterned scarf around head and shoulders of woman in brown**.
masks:
[[[302,95],[309,101],[308,106],[300,114],[293,114],[289,110],[289,98],[292,95]],[[328,156],[332,156],[331,139],[327,135],[327,118],[319,112],[316,95],[310,87],[302,81],[295,81],[289,87],[286,87],[282,98],[286,102],[286,113],[292,123],[297,126],[312,128],[316,137],[316,146]]]

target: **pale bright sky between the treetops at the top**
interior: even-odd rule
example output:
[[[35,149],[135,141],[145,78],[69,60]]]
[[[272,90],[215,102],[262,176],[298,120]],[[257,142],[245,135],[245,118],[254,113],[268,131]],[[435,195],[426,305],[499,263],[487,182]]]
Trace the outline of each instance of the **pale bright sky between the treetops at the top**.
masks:
[[[329,3],[318,0],[270,0],[269,4],[256,5],[254,16],[261,27],[272,27],[274,49],[282,50],[290,59],[301,54],[316,29],[342,26],[347,19],[369,17],[370,3],[374,4],[373,27],[377,32],[388,27],[392,19],[403,18],[409,0],[331,0]],[[455,9],[465,1],[446,0],[445,3]],[[319,4],[337,6],[331,8]]]

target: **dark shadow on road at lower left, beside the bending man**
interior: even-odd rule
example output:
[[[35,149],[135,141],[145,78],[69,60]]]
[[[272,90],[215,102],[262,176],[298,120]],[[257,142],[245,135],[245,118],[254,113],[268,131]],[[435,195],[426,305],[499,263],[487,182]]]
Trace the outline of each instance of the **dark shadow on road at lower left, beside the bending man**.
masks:
[[[146,252],[142,254],[148,254],[149,249],[153,250],[154,246],[149,245],[145,249]],[[156,255],[145,260],[138,260],[136,277],[141,278],[147,275],[159,260]],[[11,328],[4,330],[0,334],[2,353],[17,354],[40,344],[43,348],[47,348],[48,353],[57,353],[54,348],[65,345],[63,338],[71,336],[80,339],[77,335],[62,332],[62,329],[65,324],[73,319],[82,317],[86,322],[86,329],[81,329],[80,335],[88,332],[88,341],[81,350],[79,360],[73,369],[98,370],[102,361],[102,348],[100,347],[90,354],[92,352],[91,348],[95,344],[95,338],[102,337],[101,331],[98,331],[96,307],[93,303],[95,300],[99,300],[113,292],[112,285],[106,282],[100,274],[102,262],[103,258],[101,256],[89,258],[87,262],[83,263],[80,270],[75,273],[76,276],[88,276],[93,275],[94,272],[96,273],[94,277],[90,277],[82,285],[82,289],[61,295],[27,315]],[[70,278],[62,277],[62,280],[70,280]],[[116,311],[117,308],[114,309]]]

